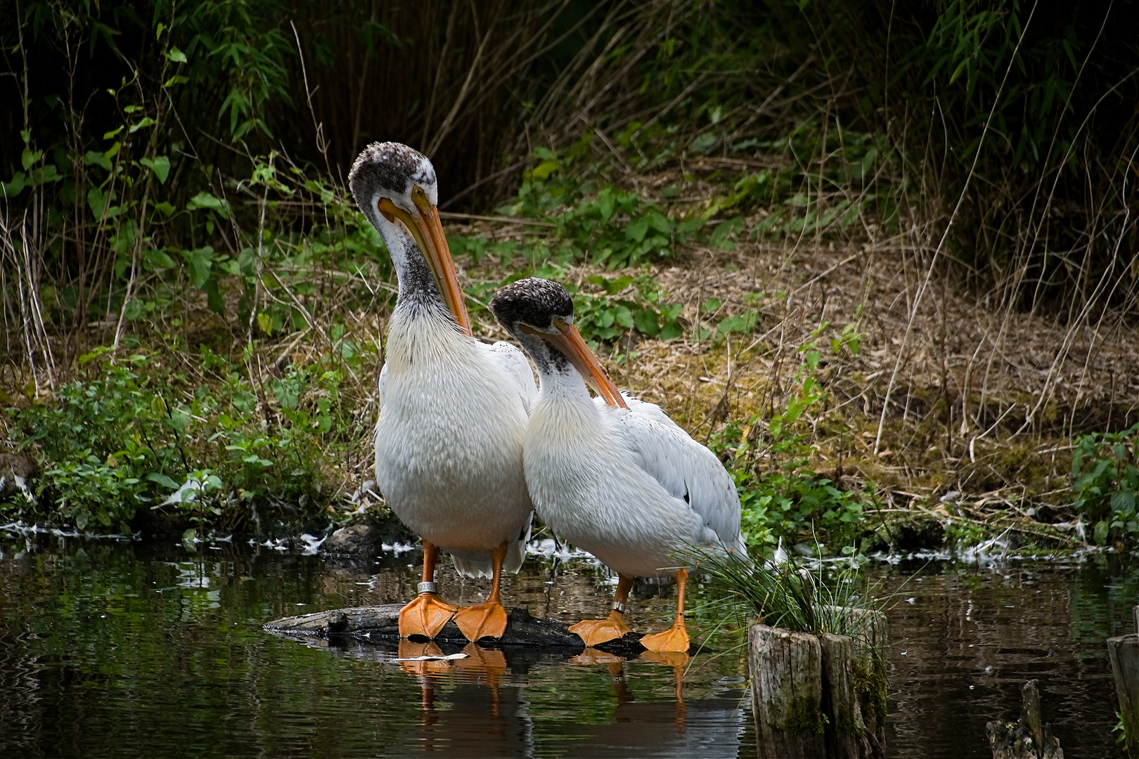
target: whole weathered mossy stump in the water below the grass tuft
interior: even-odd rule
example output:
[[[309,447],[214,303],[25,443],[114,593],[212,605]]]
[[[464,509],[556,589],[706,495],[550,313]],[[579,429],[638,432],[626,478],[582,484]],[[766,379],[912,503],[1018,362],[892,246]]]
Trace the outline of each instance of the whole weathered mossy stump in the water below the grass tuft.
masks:
[[[859,640],[753,625],[748,667],[760,757],[885,757],[886,619],[850,610]]]

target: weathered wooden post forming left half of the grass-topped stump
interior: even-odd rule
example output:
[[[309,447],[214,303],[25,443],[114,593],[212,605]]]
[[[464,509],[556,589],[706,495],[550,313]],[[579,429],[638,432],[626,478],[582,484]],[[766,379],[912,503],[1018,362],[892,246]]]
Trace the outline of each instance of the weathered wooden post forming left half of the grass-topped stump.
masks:
[[[748,662],[760,757],[826,759],[819,638],[753,625]]]

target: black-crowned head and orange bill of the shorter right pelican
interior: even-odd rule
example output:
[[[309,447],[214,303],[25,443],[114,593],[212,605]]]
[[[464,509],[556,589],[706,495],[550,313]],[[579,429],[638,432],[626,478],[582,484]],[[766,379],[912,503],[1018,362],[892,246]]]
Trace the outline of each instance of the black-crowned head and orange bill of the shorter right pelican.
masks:
[[[573,323],[573,300],[557,282],[528,277],[491,298],[491,313],[526,349],[539,374],[568,361],[611,406],[628,407]]]

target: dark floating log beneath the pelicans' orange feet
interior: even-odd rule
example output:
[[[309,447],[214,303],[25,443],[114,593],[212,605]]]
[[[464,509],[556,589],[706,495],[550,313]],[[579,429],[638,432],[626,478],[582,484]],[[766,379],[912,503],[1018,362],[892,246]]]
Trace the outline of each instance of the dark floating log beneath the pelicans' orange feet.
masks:
[[[330,609],[298,617],[284,617],[267,622],[263,629],[276,635],[316,635],[328,638],[354,638],[358,641],[399,641],[399,614],[402,604],[391,603],[379,607],[352,607]],[[638,655],[645,650],[640,635],[630,633],[616,641],[601,643],[595,647],[617,655]],[[435,637],[440,643],[465,644],[467,638],[459,627],[450,621]],[[500,638],[483,638],[480,645],[526,645],[546,649],[565,649],[567,653],[581,653],[585,649],[577,635],[566,625],[531,617],[525,609],[507,611],[506,633]]]

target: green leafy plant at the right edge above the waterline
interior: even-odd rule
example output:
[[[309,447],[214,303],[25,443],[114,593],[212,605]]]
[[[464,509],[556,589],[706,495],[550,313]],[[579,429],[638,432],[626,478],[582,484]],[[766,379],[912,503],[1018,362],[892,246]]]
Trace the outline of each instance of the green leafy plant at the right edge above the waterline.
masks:
[[[1072,508],[1092,523],[1099,545],[1139,538],[1139,424],[1079,435],[1072,452]]]

